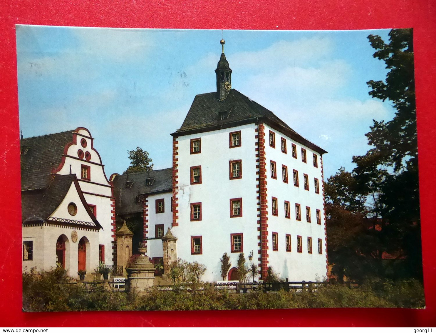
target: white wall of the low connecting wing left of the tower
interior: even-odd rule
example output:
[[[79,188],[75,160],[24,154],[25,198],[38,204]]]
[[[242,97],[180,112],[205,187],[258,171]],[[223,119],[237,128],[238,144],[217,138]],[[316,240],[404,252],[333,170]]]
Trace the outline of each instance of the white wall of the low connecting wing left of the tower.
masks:
[[[173,192],[165,192],[152,194],[147,197],[148,201],[148,237],[154,238],[157,224],[164,224],[164,234],[167,233],[167,228],[171,228],[173,222],[173,212],[171,211],[171,197]],[[164,213],[156,213],[156,200],[164,199]],[[147,240],[147,255],[150,258],[162,257],[162,240]]]

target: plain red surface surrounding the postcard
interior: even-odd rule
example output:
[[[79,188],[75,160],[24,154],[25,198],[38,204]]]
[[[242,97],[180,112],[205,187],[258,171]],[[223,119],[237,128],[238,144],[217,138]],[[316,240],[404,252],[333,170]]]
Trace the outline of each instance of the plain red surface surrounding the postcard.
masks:
[[[436,10],[432,0],[0,1],[0,326],[436,326]],[[414,28],[427,308],[21,312],[20,156],[14,24],[269,30]],[[278,26],[278,27],[277,27]]]

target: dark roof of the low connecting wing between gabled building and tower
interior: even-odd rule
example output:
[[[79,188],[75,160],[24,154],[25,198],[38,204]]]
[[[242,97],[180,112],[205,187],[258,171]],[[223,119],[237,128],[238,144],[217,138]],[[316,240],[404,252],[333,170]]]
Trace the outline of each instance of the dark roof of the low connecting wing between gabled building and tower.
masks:
[[[152,185],[146,185],[147,178],[153,179]],[[129,187],[126,182],[129,181]],[[142,213],[142,203],[137,197],[143,194],[171,192],[173,188],[173,169],[151,170],[129,175],[116,175],[113,190],[117,215]]]

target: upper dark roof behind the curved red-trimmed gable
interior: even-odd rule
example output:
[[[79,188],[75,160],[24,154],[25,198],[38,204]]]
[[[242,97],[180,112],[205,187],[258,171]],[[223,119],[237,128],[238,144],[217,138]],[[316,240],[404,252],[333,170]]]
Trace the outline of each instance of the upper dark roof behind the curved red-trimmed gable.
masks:
[[[21,155],[21,189],[44,189],[50,181],[50,173],[62,160],[65,146],[72,142],[72,133],[61,133],[21,139],[25,154]]]

